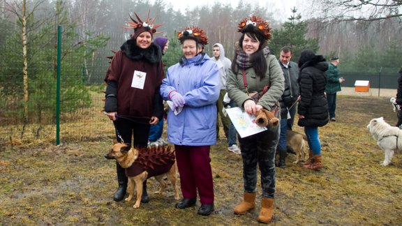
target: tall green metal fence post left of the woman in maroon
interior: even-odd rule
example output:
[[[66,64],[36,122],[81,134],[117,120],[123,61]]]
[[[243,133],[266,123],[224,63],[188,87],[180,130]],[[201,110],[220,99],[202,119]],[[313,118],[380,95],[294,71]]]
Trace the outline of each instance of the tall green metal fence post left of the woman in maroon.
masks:
[[[60,62],[61,62],[61,26],[57,27],[57,88],[56,88],[56,145],[60,144]]]

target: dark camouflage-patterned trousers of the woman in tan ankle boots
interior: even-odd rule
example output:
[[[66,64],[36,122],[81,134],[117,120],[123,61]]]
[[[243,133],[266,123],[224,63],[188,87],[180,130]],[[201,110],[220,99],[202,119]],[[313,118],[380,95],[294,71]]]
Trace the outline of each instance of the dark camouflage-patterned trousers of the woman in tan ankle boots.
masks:
[[[279,126],[248,137],[239,137],[243,160],[244,192],[255,193],[257,165],[261,172],[262,197],[275,196],[275,152],[279,140]]]

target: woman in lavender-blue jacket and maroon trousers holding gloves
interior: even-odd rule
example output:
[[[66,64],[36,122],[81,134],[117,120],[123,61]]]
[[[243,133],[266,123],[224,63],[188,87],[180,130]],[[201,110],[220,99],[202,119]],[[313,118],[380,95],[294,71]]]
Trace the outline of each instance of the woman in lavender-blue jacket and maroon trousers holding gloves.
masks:
[[[198,214],[214,211],[210,146],[216,144],[216,100],[220,77],[216,63],[203,52],[208,38],[198,27],[187,27],[178,34],[183,57],[168,68],[161,85],[161,96],[172,101],[168,113],[168,140],[174,144],[183,199],[176,208],[195,206],[197,191],[201,206]]]

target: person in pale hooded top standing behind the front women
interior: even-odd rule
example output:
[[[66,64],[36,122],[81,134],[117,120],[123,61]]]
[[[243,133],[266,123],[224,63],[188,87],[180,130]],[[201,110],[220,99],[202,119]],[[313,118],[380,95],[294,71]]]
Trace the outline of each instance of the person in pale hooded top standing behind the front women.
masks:
[[[221,43],[215,43],[213,45],[212,51],[214,52],[214,57],[211,58],[212,61],[216,63],[219,70],[219,76],[221,77],[221,93],[219,94],[219,99],[216,102],[216,107],[218,108],[218,114],[221,116],[221,121],[223,124],[223,130],[225,131],[225,137],[229,136],[229,125],[230,119],[228,116],[223,114],[223,97],[226,94],[226,78],[228,77],[228,70],[232,65],[232,61],[225,57],[225,50]],[[219,138],[219,124],[216,123],[216,138]]]

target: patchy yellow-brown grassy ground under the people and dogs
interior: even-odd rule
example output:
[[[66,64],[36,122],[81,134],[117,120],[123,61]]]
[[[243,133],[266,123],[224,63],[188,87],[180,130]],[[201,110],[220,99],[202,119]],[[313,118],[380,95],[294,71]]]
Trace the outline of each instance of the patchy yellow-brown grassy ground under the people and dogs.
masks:
[[[325,168],[311,172],[293,165],[295,156],[289,156],[288,167],[276,169],[272,225],[402,224],[402,156],[380,166],[384,154],[366,129],[379,116],[396,123],[388,98],[338,96],[337,121],[319,129]],[[110,127],[108,121],[98,123]],[[295,130],[303,131],[297,125]],[[199,202],[175,209],[171,186],[165,195],[154,194],[154,179],[148,182],[151,201],[140,209],[133,209],[134,202],[114,202],[115,163],[103,158],[112,134],[91,139],[93,131],[80,131],[89,138],[68,133],[73,138],[61,146],[3,144],[1,225],[258,225],[260,198],[255,211],[233,214],[242,199],[242,164],[224,139],[211,149],[216,211],[204,217],[196,214]]]

